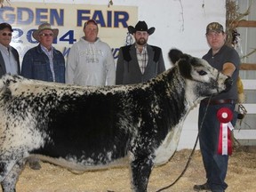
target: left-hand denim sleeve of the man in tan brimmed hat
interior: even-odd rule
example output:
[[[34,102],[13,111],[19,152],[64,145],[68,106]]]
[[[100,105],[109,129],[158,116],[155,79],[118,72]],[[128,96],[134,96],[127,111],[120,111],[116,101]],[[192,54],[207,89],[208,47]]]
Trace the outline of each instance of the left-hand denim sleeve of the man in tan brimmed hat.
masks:
[[[24,76],[26,78],[33,79],[33,63],[34,63],[34,58],[31,53],[31,50],[28,50],[28,52],[25,53],[22,64],[21,64],[21,76]]]

